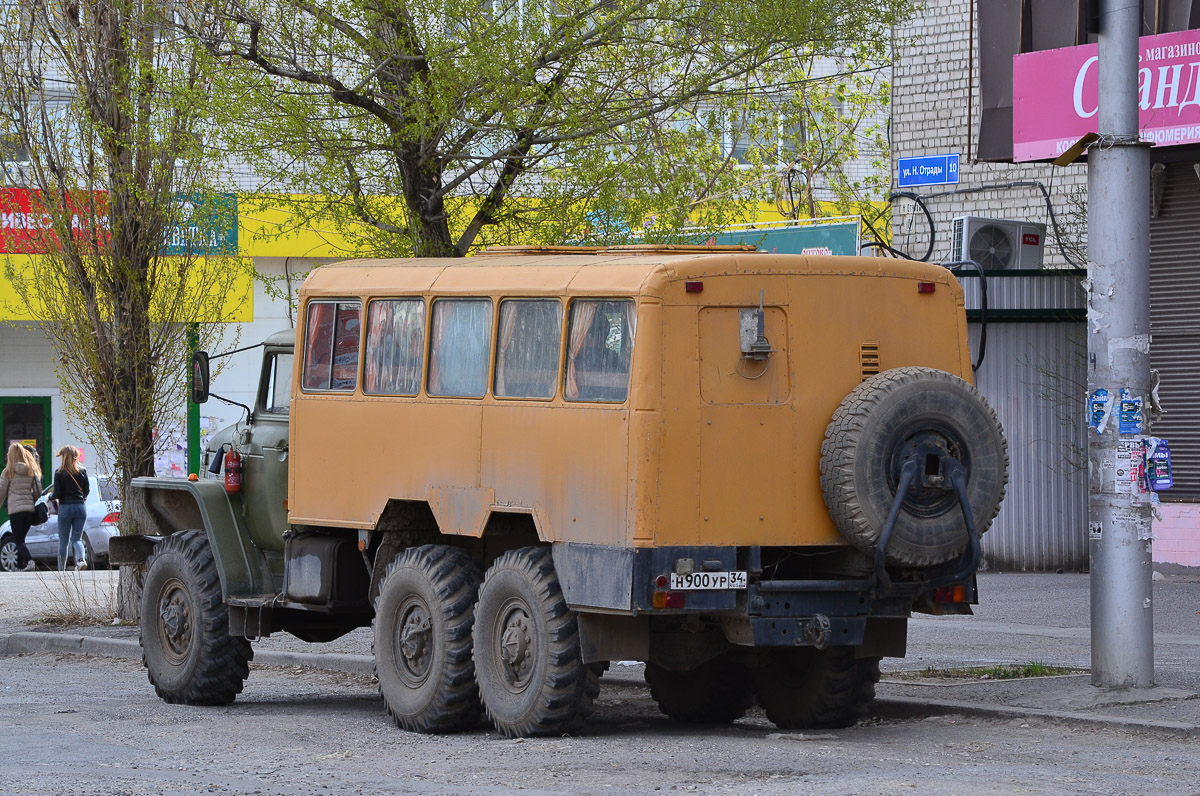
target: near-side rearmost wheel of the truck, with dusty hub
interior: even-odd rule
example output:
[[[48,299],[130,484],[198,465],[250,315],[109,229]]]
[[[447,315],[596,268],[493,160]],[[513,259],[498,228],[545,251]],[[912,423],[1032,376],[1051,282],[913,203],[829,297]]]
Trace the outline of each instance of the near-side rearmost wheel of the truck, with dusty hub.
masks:
[[[484,708],[508,737],[574,732],[600,693],[584,664],[548,547],[504,553],[475,606],[475,680]]]

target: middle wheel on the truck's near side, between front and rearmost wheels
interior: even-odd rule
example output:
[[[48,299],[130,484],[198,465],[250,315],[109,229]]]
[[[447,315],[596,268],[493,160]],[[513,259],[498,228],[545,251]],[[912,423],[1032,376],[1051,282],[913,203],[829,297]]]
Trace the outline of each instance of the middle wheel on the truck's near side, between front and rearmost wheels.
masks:
[[[396,725],[454,732],[479,724],[473,609],[482,581],[464,551],[409,547],[388,567],[376,599],[374,668]]]

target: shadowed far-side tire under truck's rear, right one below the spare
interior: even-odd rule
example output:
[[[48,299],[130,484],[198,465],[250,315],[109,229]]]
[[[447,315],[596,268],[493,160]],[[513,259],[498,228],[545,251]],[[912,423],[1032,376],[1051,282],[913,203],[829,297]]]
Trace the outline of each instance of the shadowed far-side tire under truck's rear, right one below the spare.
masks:
[[[851,647],[772,650],[755,681],[758,704],[781,730],[851,726],[875,699],[880,659],[854,658]]]

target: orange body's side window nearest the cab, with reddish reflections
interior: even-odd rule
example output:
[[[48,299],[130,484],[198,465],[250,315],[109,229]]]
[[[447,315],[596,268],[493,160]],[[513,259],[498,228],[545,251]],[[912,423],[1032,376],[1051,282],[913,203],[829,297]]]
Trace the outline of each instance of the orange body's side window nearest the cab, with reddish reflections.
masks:
[[[350,391],[358,384],[360,313],[358,301],[308,303],[304,389]]]

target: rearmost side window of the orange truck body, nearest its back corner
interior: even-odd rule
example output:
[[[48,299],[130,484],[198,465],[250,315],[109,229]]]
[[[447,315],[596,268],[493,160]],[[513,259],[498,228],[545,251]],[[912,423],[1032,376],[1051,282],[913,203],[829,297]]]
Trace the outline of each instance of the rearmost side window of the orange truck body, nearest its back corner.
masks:
[[[564,389],[568,401],[625,400],[636,329],[637,305],[632,301],[571,301]]]

